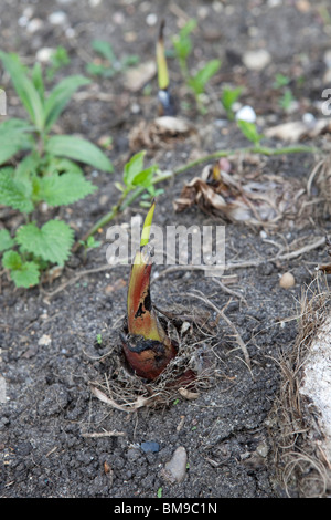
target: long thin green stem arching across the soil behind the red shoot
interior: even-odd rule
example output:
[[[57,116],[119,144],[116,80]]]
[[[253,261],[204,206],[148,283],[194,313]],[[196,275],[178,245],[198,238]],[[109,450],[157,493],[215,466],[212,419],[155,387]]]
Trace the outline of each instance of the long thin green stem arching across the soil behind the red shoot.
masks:
[[[214,152],[213,154],[204,155],[203,157],[200,157],[199,159],[192,160],[191,163],[188,163],[183,166],[180,166],[179,168],[174,169],[173,171],[169,171],[167,174],[160,174],[157,177],[154,177],[151,180],[151,185],[156,185],[159,183],[163,183],[164,180],[169,180],[173,178],[177,175],[183,174],[184,171],[188,171],[191,168],[194,168],[195,166],[201,165],[202,163],[207,163],[210,160],[214,159],[220,159],[222,157],[229,157],[235,154],[261,154],[261,155],[267,155],[267,156],[276,156],[276,155],[285,155],[285,154],[316,154],[318,153],[318,148],[314,148],[313,146],[306,146],[306,145],[293,145],[293,146],[285,146],[282,148],[269,148],[266,146],[250,146],[246,148],[234,148],[234,149],[223,149],[220,152]],[[87,240],[88,237],[94,235],[99,228],[103,228],[107,223],[109,223],[114,218],[122,212],[126,208],[128,208],[140,195],[143,194],[146,190],[145,186],[141,186],[135,190],[130,191],[125,191],[118,204],[116,206],[113,206],[111,211],[106,214],[104,217],[102,217],[81,239],[83,241]],[[79,242],[76,242],[73,251],[76,251],[79,248]]]

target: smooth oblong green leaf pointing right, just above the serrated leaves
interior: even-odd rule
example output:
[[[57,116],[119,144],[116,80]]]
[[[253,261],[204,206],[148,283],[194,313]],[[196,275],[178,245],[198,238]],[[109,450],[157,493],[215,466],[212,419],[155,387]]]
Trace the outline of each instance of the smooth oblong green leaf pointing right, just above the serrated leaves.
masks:
[[[67,157],[88,164],[103,171],[113,171],[108,157],[93,143],[72,135],[54,135],[46,143],[46,152],[57,157]]]

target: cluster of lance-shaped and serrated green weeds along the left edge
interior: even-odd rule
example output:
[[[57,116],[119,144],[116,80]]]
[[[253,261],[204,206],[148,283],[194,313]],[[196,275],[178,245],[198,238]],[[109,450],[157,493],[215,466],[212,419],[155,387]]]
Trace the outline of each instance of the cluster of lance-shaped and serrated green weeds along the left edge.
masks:
[[[108,157],[93,143],[72,135],[52,135],[52,129],[74,92],[89,83],[72,75],[46,95],[41,65],[26,70],[15,54],[0,51],[0,60],[28,112],[28,119],[10,118],[0,124],[0,205],[25,216],[26,223],[14,237],[0,231],[2,266],[17,287],[39,283],[41,272],[68,259],[74,232],[67,223],[50,219],[39,227],[33,218],[41,202],[66,206],[97,188],[85,179],[84,163],[113,171]],[[13,160],[17,165],[13,166]]]

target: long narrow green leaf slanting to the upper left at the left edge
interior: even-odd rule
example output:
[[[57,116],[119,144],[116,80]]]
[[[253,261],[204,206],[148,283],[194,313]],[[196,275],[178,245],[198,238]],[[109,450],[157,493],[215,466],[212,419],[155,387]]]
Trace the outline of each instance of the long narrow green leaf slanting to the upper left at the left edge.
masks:
[[[44,125],[43,102],[38,90],[28,76],[25,69],[21,64],[17,54],[8,54],[0,51],[0,60],[9,73],[18,96],[29,113],[31,121],[39,129],[42,129]]]

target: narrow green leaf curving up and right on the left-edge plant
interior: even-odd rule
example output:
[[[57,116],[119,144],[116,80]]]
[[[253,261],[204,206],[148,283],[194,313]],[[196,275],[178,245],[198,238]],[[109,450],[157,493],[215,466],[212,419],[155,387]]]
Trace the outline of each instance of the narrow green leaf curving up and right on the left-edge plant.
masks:
[[[72,95],[83,85],[90,83],[90,80],[82,75],[65,77],[51,91],[45,101],[45,129],[46,132],[54,125]]]

